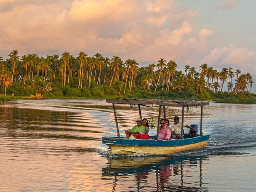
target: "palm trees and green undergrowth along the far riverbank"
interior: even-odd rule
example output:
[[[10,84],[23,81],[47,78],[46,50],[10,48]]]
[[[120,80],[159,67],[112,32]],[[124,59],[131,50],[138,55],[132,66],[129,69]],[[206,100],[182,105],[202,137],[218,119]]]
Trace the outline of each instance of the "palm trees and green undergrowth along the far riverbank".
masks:
[[[88,57],[80,52],[74,57],[64,52],[61,58],[39,58],[33,53],[20,58],[12,50],[6,60],[0,56],[0,100],[125,97],[256,103],[256,95],[250,93],[254,83],[250,73],[242,74],[239,69],[234,73],[231,67],[218,72],[205,63],[200,73],[188,65],[185,74],[177,68],[175,61],[163,58],[139,68],[134,59],[124,62],[100,53]],[[228,92],[222,91],[225,82]]]

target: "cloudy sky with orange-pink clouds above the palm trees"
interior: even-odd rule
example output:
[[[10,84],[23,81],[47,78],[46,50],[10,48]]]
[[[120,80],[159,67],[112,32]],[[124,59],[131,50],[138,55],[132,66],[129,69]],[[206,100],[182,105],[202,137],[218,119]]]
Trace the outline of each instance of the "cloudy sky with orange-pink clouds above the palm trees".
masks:
[[[0,55],[63,52],[239,68],[256,82],[255,0],[0,0]],[[256,92],[253,84],[252,92]]]

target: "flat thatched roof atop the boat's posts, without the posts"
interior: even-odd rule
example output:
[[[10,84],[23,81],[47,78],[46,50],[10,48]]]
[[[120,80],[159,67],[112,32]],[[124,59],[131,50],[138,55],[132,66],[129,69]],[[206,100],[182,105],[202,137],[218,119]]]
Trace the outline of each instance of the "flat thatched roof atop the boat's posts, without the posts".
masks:
[[[107,99],[107,103],[127,105],[158,105],[171,107],[196,107],[209,105],[207,101],[181,101],[181,100],[145,100],[145,99]]]

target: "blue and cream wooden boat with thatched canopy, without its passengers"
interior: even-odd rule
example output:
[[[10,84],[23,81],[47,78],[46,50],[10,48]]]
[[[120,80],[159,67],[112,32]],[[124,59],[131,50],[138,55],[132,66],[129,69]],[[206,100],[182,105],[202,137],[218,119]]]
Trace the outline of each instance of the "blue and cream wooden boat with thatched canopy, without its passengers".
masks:
[[[181,101],[181,100],[140,100],[140,99],[107,99],[107,103],[112,103],[117,137],[102,137],[102,143],[106,144],[112,154],[134,154],[134,153],[147,153],[147,154],[172,154],[178,153],[184,150],[206,147],[207,140],[209,140],[209,135],[205,135],[202,132],[202,121],[203,121],[203,106],[209,105],[207,101]],[[150,136],[149,139],[126,139],[125,137],[120,137],[116,108],[115,104],[132,105],[138,106],[139,116],[141,116],[141,106],[144,107],[158,107],[158,121],[157,121],[157,132],[156,135]],[[181,107],[182,108],[182,118],[181,118],[181,134],[184,139],[179,140],[156,140],[159,133],[160,119],[162,116],[162,109],[164,118],[166,118],[166,108],[167,107]],[[185,107],[201,107],[201,118],[200,118],[200,133],[196,134],[194,137],[189,137],[188,134],[183,134],[184,125],[184,111]]]

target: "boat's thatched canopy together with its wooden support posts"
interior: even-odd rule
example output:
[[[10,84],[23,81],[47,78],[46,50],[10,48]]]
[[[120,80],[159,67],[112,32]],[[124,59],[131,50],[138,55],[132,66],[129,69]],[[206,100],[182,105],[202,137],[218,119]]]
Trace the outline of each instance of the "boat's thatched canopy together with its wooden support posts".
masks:
[[[140,118],[142,118],[140,106],[159,107],[157,133],[156,133],[157,137],[158,137],[158,133],[159,133],[159,125],[160,125],[162,108],[164,111],[164,118],[166,118],[165,107],[182,107],[181,135],[183,135],[184,108],[185,107],[187,107],[187,108],[199,107],[199,106],[201,107],[201,119],[200,119],[200,136],[201,136],[202,135],[202,121],[203,121],[203,106],[209,105],[208,101],[195,101],[195,100],[183,101],[183,100],[145,100],[145,99],[119,99],[119,98],[117,98],[117,99],[107,99],[106,102],[112,103],[112,105],[113,105],[118,138],[120,138],[120,133],[119,133],[119,129],[118,129],[115,104],[138,105]]]

